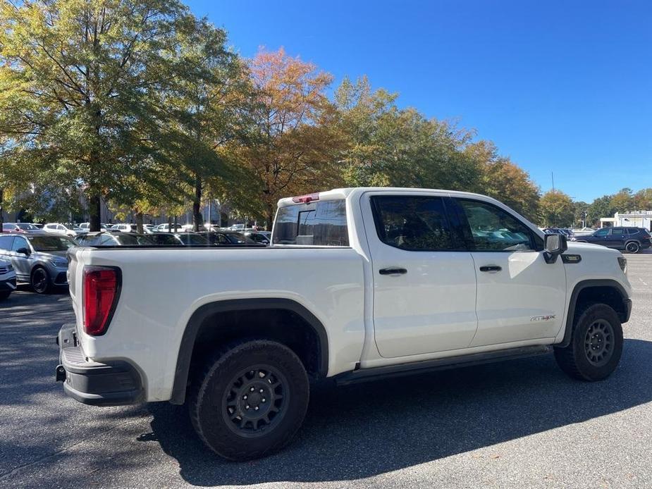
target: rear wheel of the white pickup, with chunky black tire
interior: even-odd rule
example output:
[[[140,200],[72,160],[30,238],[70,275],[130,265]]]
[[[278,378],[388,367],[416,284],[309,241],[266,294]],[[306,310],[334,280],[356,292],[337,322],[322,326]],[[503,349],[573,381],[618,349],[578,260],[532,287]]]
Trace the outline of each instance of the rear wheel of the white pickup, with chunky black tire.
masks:
[[[247,460],[281,450],[300,428],[308,376],[285,345],[254,340],[207,361],[190,395],[190,419],[221,457]]]

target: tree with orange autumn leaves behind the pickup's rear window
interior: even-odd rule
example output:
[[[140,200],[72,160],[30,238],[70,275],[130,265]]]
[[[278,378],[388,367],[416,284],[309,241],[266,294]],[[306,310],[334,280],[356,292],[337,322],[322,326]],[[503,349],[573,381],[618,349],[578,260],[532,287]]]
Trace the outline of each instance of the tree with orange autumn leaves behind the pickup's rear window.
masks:
[[[255,97],[252,134],[247,144],[229,152],[254,188],[233,189],[230,199],[238,208],[264,216],[269,228],[279,198],[326,188],[340,178],[340,138],[333,124],[337,111],[326,96],[333,77],[282,48],[259,51],[249,69]],[[261,196],[259,202],[245,202],[252,194]]]

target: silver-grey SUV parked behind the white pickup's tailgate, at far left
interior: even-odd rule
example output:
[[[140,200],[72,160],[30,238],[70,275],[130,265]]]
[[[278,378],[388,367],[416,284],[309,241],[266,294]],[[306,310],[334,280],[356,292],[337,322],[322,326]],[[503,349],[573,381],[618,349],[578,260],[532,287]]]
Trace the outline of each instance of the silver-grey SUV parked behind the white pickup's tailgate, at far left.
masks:
[[[47,233],[0,235],[0,256],[9,259],[18,282],[32,285],[43,294],[54,287],[68,285],[68,248],[75,246],[68,236]]]

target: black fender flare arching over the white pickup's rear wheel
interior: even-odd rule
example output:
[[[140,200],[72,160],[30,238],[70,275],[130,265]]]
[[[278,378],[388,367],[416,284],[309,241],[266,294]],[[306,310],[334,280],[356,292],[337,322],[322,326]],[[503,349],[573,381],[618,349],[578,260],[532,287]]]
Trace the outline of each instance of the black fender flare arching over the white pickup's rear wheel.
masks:
[[[257,309],[281,309],[292,311],[304,319],[314,330],[319,338],[319,375],[326,376],[328,373],[328,335],[326,328],[312,312],[292,299],[228,299],[217,302],[210,302],[199,307],[190,319],[183,332],[179,352],[177,356],[176,369],[174,372],[174,383],[170,402],[172,404],[183,404],[185,402],[185,391],[190,371],[192,350],[195,347],[195,339],[204,321],[214,314],[231,311],[254,311]]]

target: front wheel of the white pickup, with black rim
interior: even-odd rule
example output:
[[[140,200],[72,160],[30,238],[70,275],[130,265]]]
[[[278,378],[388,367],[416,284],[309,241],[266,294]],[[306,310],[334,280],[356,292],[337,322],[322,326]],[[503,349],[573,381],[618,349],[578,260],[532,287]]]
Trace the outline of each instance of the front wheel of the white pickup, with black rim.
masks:
[[[622,326],[606,304],[593,304],[577,319],[570,345],[555,348],[560,368],[579,380],[603,380],[618,366],[622,354]]]

